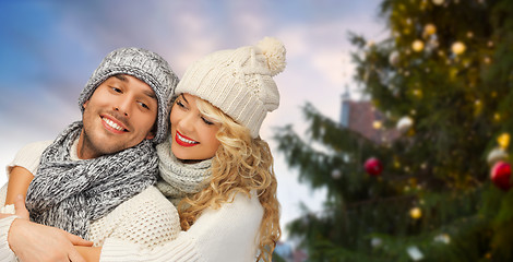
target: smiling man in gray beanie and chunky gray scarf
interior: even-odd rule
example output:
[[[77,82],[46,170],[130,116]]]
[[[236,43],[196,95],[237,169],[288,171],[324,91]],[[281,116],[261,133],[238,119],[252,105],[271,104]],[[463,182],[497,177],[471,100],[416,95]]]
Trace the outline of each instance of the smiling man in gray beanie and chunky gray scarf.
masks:
[[[121,203],[136,199],[155,182],[158,159],[154,143],[166,138],[170,98],[177,82],[169,64],[157,53],[140,48],[110,52],[80,95],[82,121],[72,123],[55,141],[34,143],[19,153],[13,164],[16,167],[11,168],[8,202],[14,202],[13,195],[26,191],[26,206],[34,222],[95,242],[106,237],[102,234],[115,236],[117,225],[98,228],[105,227],[103,218]],[[3,196],[4,192],[0,194]],[[145,194],[147,198],[148,193]],[[94,224],[98,221],[102,225]],[[122,219],[110,221],[122,225]],[[43,235],[44,238],[53,236],[48,241],[61,243],[62,249],[39,247],[48,258],[24,253],[21,247],[36,237],[24,235],[31,228],[45,228],[50,235]],[[75,236],[28,221],[15,217],[0,221],[1,261],[13,259],[10,247],[21,260],[82,261],[70,240],[91,246]]]

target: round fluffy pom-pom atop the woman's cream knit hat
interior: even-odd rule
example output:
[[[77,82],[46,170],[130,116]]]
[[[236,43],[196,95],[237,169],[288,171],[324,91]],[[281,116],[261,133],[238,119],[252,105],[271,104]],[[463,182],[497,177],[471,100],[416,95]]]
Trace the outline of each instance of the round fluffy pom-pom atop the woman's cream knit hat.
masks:
[[[256,44],[262,53],[267,58],[267,66],[271,75],[274,76],[285,70],[285,46],[282,41],[274,37],[264,37]]]

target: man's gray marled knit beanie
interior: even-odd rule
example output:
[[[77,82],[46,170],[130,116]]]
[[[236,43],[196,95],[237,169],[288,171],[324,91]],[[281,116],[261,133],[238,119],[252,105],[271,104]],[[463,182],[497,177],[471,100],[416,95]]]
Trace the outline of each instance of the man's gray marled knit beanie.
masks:
[[[90,81],[79,97],[79,106],[84,112],[84,103],[105,80],[115,74],[129,74],[150,85],[157,96],[157,132],[154,143],[160,143],[167,135],[168,117],[174,90],[178,76],[169,63],[159,55],[142,48],[119,48],[107,55],[99,67],[93,72]]]

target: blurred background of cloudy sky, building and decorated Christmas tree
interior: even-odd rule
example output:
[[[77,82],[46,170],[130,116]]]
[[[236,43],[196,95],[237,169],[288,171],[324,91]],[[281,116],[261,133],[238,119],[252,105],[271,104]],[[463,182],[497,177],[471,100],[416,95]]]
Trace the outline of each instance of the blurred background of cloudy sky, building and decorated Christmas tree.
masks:
[[[80,119],[118,47],[181,76],[264,36],[287,48],[276,261],[513,260],[510,0],[1,1],[0,165]]]

